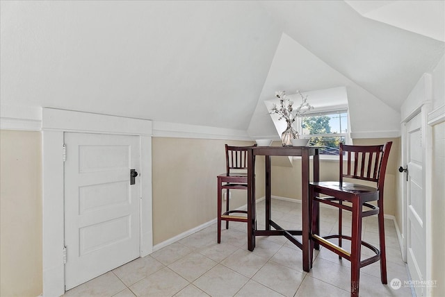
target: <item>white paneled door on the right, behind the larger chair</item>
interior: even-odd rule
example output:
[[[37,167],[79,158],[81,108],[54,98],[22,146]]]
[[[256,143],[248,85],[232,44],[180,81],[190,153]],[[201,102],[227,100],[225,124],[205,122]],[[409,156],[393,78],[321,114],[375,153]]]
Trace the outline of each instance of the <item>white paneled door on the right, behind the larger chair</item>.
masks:
[[[407,148],[407,263],[412,280],[426,277],[426,198],[423,169],[421,114],[406,124]],[[425,296],[425,289],[416,286],[417,296]]]

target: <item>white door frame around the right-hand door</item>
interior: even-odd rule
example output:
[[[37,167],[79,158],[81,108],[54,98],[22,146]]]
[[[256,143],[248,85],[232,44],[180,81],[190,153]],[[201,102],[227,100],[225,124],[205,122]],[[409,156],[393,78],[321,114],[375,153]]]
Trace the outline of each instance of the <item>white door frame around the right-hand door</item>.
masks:
[[[426,235],[426,275],[424,280],[431,280],[432,274],[432,126],[428,124],[428,114],[432,105],[432,85],[431,76],[424,74],[416,87],[410,94],[411,98],[405,101],[405,108],[402,108],[401,121],[401,162],[400,166],[407,164],[407,128],[406,124],[417,114],[421,116],[421,145],[423,155],[423,195],[425,196],[425,235]],[[421,90],[421,92],[419,92]],[[408,169],[409,170],[409,169]],[[408,171],[409,174],[409,171]],[[407,183],[406,176],[399,177],[402,185],[402,222],[403,222],[403,248],[402,258],[407,262]],[[430,296],[430,287],[426,288],[426,296]]]

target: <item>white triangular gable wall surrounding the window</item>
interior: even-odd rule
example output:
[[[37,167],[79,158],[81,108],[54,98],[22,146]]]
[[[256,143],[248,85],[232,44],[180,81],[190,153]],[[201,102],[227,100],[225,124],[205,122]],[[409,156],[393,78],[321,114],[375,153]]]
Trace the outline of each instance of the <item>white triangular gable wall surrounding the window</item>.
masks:
[[[391,133],[387,136],[393,137],[400,129],[401,117],[398,111],[283,34],[250,122],[249,135],[254,139],[278,137],[264,101],[272,99],[276,90],[286,90],[287,94],[293,94],[296,85],[299,90],[346,87],[352,133],[383,131]],[[308,100],[310,103],[310,97]]]

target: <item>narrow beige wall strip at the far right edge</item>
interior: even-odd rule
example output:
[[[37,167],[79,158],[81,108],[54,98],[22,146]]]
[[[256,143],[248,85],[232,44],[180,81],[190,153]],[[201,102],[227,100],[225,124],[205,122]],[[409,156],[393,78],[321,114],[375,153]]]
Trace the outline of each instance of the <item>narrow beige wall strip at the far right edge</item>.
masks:
[[[432,295],[445,296],[445,122],[432,126],[432,144]]]

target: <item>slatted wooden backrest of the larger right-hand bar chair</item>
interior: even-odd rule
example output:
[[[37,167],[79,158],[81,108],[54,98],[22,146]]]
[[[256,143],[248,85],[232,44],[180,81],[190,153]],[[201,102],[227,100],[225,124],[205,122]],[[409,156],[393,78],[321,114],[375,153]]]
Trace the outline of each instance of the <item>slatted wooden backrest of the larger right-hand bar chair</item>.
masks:
[[[340,182],[343,178],[368,180],[382,184],[392,142],[377,146],[348,146],[340,144]],[[348,156],[347,170],[343,171],[343,155]],[[351,157],[354,158],[351,158]],[[352,168],[352,171],[351,171]]]

